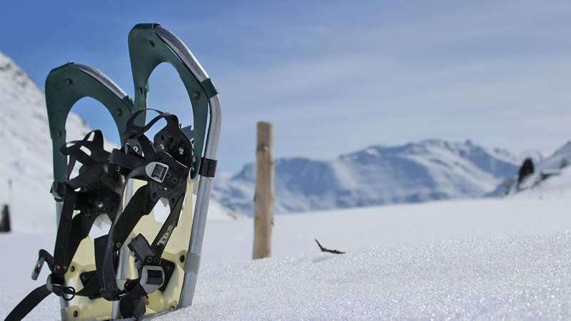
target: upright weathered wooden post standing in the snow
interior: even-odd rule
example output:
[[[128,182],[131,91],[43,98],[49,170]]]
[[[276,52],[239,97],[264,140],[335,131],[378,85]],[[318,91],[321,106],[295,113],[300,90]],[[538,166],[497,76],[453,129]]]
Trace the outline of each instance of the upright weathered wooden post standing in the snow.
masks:
[[[253,259],[271,255],[273,226],[273,126],[258,122],[256,143],[256,192],[254,194]]]

